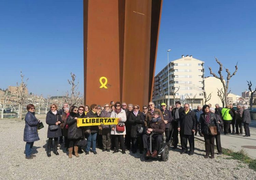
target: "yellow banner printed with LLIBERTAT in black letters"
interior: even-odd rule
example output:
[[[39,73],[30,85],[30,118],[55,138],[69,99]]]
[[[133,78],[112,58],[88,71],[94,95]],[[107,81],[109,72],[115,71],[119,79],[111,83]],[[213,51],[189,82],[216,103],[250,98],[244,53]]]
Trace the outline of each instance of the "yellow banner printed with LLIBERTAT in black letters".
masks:
[[[77,126],[100,126],[117,124],[118,118],[79,118]]]

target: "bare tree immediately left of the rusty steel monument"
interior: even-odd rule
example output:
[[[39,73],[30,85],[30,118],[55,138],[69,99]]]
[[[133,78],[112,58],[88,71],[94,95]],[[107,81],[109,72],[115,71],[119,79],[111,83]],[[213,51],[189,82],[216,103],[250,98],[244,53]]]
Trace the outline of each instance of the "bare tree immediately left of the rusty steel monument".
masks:
[[[68,79],[68,83],[71,86],[71,90],[70,90],[70,94],[69,94],[69,91],[66,92],[65,102],[67,102],[69,106],[73,106],[79,102],[80,92],[77,91],[79,82],[75,83],[76,75],[73,74],[72,72],[70,74],[71,74],[71,80]]]

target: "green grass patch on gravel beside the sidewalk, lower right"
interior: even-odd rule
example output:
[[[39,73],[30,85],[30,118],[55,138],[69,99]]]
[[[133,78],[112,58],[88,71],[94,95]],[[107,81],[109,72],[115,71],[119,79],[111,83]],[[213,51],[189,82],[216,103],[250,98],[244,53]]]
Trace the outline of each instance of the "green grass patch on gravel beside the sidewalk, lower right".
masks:
[[[228,157],[228,158],[225,158],[225,159],[235,159],[235,160],[242,161],[242,162],[248,164],[249,168],[256,171],[256,160],[252,159],[252,158],[249,158],[247,156],[246,152],[244,152],[243,149],[238,151],[238,152],[233,152],[230,149],[222,148],[222,152],[223,152],[224,155],[231,156],[231,157]]]

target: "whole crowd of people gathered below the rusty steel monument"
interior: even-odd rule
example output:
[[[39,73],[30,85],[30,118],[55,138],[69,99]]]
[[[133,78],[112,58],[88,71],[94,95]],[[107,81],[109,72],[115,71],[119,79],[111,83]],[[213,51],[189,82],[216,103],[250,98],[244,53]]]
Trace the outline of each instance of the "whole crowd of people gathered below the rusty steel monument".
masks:
[[[194,134],[199,133],[205,140],[205,158],[208,158],[210,154],[210,158],[214,158],[215,139],[218,154],[222,154],[220,134],[223,132],[223,126],[224,133],[229,134],[230,124],[235,117],[236,131],[233,127],[232,132],[242,133],[241,123],[244,122],[245,136],[250,136],[248,123],[251,118],[246,105],[243,106],[244,110],[239,105],[237,110],[230,105],[223,109],[219,108],[218,104],[215,105],[216,108],[209,105],[204,105],[202,109],[201,106],[198,106],[196,110],[191,110],[189,104],[185,103],[182,107],[181,102],[177,101],[174,108],[170,106],[167,109],[166,104],[162,103],[161,109],[157,109],[153,102],[149,102],[148,106],[143,106],[143,110],[140,111],[139,105],[127,105],[113,101],[110,104],[104,104],[103,107],[96,104],[92,104],[90,107],[88,105],[69,107],[67,103],[64,103],[60,110],[57,110],[57,104],[52,104],[46,115],[46,124],[48,124],[46,154],[51,157],[51,147],[53,146],[53,153],[59,155],[58,142],[59,144],[63,143],[64,137],[64,146],[67,148],[69,158],[72,158],[72,154],[79,157],[79,153],[83,153],[78,143],[84,138],[87,140],[84,149],[85,155],[88,155],[89,152],[96,155],[96,145],[98,145],[102,151],[110,152],[110,149],[113,149],[113,153],[117,153],[120,147],[122,153],[126,154],[125,151],[131,148],[132,153],[136,153],[139,149],[141,154],[143,150],[146,152],[146,157],[156,157],[160,144],[164,140],[163,134],[165,134],[166,143],[175,149],[179,143],[178,135],[180,133],[181,154],[193,155]],[[33,143],[39,140],[38,124],[40,120],[35,117],[33,104],[27,105],[27,110],[24,128],[25,152],[26,159],[33,159],[35,155],[32,154],[32,147]],[[124,126],[124,130],[119,131],[117,125],[77,126],[79,118],[97,117],[118,118],[118,126]],[[216,134],[211,133],[209,129],[211,126],[215,127]],[[150,151],[148,141],[151,133],[154,133],[152,139],[156,142],[153,151]],[[53,140],[54,145],[52,145]],[[187,141],[189,142],[189,151]]]

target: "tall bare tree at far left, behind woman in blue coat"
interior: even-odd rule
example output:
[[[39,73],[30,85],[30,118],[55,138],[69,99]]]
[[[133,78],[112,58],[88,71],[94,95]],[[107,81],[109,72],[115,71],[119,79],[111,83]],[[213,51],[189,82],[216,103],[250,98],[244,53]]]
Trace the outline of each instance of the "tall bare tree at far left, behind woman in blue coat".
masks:
[[[17,103],[19,105],[19,110],[18,110],[18,119],[22,120],[22,109],[25,106],[26,100],[27,100],[27,94],[25,93],[26,88],[27,88],[27,81],[24,81],[24,75],[22,74],[22,71],[20,71],[20,77],[21,77],[21,82],[18,84],[17,82],[17,87],[16,87],[16,97],[17,97]]]

